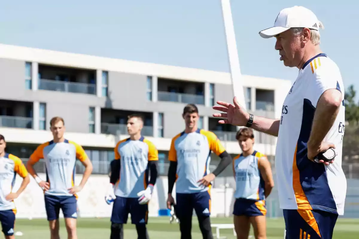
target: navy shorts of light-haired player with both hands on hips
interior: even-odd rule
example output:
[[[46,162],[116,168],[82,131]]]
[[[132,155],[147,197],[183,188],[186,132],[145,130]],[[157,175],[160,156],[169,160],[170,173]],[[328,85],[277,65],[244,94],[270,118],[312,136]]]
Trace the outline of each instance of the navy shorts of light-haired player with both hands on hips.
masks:
[[[75,196],[45,195],[47,220],[59,219],[60,209],[64,218],[77,218],[77,199]]]

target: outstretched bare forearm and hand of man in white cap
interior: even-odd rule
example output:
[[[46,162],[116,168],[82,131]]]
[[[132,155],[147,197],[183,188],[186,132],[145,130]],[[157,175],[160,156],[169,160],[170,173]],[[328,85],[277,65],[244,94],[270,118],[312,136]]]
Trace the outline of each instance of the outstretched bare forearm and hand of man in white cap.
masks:
[[[217,101],[217,104],[220,106],[213,106],[213,109],[224,112],[213,114],[213,117],[224,118],[223,120],[219,120],[218,123],[232,124],[236,126],[247,125],[247,122],[250,119],[250,114],[238,104],[237,97],[233,98],[233,104],[223,101]],[[251,128],[277,137],[279,124],[279,119],[267,119],[264,117],[254,116]]]

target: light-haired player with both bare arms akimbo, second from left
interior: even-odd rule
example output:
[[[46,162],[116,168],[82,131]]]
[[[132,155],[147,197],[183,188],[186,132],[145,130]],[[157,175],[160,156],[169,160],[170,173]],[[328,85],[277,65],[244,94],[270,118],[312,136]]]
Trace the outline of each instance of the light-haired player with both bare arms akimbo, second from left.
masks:
[[[64,138],[64,119],[50,120],[53,140],[39,145],[27,162],[27,169],[38,185],[45,191],[45,207],[49,221],[51,239],[59,239],[59,212],[64,214],[69,239],[77,239],[77,195],[85,186],[92,172],[92,163],[85,150],[73,141]],[[35,172],[33,166],[45,159],[46,181]],[[78,159],[85,171],[78,186],[75,186],[75,166]]]

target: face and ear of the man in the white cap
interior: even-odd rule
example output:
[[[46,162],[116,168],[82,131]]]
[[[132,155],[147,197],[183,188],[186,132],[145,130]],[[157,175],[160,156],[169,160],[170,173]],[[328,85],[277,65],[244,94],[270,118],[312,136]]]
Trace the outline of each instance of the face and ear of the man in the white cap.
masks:
[[[310,30],[304,28],[303,32],[294,34],[292,29],[275,36],[275,49],[279,51],[280,61],[284,66],[298,67],[303,58],[303,48],[310,39]]]

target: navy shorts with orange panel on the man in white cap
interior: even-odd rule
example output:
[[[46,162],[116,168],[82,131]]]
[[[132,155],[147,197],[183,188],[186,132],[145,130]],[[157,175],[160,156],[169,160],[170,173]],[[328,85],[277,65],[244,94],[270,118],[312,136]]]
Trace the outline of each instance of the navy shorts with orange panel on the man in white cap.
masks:
[[[285,239],[331,239],[337,214],[321,210],[283,210]]]

